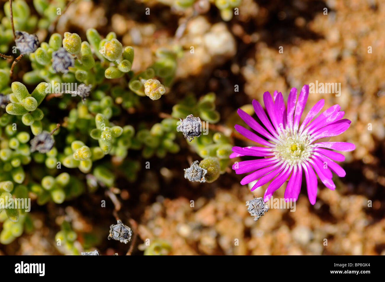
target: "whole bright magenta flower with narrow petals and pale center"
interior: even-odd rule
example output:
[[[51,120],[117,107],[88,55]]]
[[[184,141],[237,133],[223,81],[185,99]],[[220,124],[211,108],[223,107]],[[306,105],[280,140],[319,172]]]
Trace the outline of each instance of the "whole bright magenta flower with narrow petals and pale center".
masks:
[[[310,109],[300,126],[300,118],[308,95],[309,85],[304,85],[297,101],[297,89],[291,88],[286,108],[281,92],[274,92],[274,101],[269,92],[263,93],[263,102],[269,117],[261,104],[253,100],[254,111],[267,130],[248,113],[238,109],[238,115],[244,122],[268,140],[241,125],[235,125],[236,131],[264,147],[235,146],[230,158],[239,156],[264,158],[235,163],[233,169],[236,174],[251,172],[241,180],[242,185],[259,179],[251,191],[274,178],[264,193],[264,202],[268,201],[275,190],[280,188],[287,179],[289,182],[284,197],[286,201],[290,199],[296,201],[301,190],[302,174],[305,174],[308,197],[310,203],[314,205],[317,196],[316,175],[326,187],[334,190],[335,184],[331,180],[331,171],[339,177],[344,177],[346,174],[345,170],[333,161],[343,161],[345,156],[328,149],[352,151],[355,145],[347,142],[315,143],[315,141],[345,132],[351,121],[346,118],[341,119],[344,112],[340,112],[339,105],[328,108],[313,120],[323,108],[325,100],[321,99]]]

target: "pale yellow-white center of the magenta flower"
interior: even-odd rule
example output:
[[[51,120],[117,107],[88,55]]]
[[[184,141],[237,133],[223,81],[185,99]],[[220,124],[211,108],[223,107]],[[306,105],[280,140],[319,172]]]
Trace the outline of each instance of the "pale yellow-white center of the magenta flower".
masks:
[[[284,162],[295,165],[309,159],[312,147],[308,135],[298,135],[283,130],[279,142],[275,145],[275,155]]]

